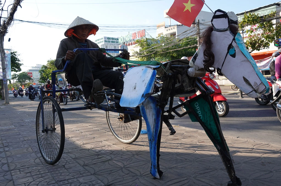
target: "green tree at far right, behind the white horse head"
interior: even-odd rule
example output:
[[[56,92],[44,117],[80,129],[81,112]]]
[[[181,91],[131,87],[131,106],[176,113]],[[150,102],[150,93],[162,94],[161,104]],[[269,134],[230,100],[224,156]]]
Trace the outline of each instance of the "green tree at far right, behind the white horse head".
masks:
[[[272,22],[276,12],[271,12],[266,16],[260,16],[255,13],[245,13],[243,19],[239,22],[239,30],[247,39],[245,45],[249,52],[254,50],[260,51],[263,48],[268,48],[270,43],[280,38],[281,24]]]

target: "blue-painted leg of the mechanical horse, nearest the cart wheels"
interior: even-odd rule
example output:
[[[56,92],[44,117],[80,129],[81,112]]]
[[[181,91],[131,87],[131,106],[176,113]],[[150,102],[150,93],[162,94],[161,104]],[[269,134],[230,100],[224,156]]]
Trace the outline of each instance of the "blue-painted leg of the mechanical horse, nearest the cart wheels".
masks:
[[[139,108],[142,117],[146,121],[151,162],[150,174],[159,179],[163,174],[159,168],[159,152],[163,120],[161,118],[161,109],[156,104],[156,99],[150,96],[139,105]]]

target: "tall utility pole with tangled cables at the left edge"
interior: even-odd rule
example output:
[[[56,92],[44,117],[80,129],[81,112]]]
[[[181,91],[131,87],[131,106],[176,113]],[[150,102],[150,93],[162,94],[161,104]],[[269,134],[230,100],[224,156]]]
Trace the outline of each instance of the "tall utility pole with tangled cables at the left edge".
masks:
[[[6,35],[9,26],[11,25],[12,21],[14,20],[14,14],[17,11],[17,7],[20,6],[20,3],[23,0],[14,0],[13,6],[10,10],[8,18],[3,20],[3,24],[1,24],[0,17],[0,55],[1,55],[1,63],[2,63],[2,73],[3,73],[3,88],[4,88],[4,97],[5,97],[5,104],[9,104],[9,91],[8,91],[8,84],[7,84],[7,74],[6,74],[6,60],[5,60],[5,52],[4,52],[4,36]],[[2,7],[3,11],[3,7]],[[2,15],[2,14],[1,14]],[[3,96],[3,93],[2,93]]]

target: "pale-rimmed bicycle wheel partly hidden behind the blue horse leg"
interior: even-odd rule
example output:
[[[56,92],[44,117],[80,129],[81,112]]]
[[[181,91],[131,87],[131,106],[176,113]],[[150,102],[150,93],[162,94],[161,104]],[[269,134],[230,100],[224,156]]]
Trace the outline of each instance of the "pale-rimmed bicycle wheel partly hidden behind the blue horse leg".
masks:
[[[133,143],[142,130],[142,118],[124,123],[124,114],[106,111],[106,119],[113,136],[122,143]]]

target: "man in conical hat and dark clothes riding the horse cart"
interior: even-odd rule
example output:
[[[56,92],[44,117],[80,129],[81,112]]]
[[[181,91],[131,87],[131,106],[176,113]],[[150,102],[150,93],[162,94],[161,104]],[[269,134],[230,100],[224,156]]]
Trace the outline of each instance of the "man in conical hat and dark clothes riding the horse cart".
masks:
[[[88,38],[91,34],[96,34],[99,27],[86,19],[77,17],[69,25],[64,35],[67,37],[62,39],[58,48],[55,66],[58,70],[64,68],[67,60],[71,60],[68,68],[66,69],[66,80],[72,86],[81,85],[85,100],[87,104],[91,102],[101,104],[103,96],[95,96],[95,93],[103,90],[103,86],[115,89],[115,93],[122,94],[123,92],[123,74],[118,71],[108,70],[105,67],[119,67],[111,57],[107,57],[100,50],[91,51],[76,51],[75,48],[99,48],[99,46],[90,41]],[[129,53],[121,53],[119,57],[129,59]],[[130,122],[133,116],[128,117],[125,114],[126,120]]]

